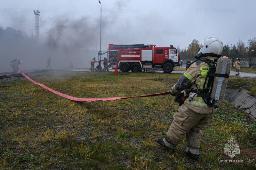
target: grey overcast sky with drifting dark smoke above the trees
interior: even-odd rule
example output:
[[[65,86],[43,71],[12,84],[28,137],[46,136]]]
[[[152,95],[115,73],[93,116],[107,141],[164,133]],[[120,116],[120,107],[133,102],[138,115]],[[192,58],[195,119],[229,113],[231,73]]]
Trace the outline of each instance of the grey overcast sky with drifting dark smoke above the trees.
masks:
[[[239,38],[247,45],[256,34],[255,0],[101,0],[101,5],[102,50],[107,50],[108,44],[179,45],[185,48],[193,39],[203,43],[209,36],[220,38],[224,45],[236,44]],[[2,1],[0,25],[20,29],[31,36],[35,34],[33,10],[38,9],[41,43],[55,36],[56,41],[70,45],[70,39],[74,44],[84,35],[92,44],[88,48],[97,46],[99,50],[98,0]]]

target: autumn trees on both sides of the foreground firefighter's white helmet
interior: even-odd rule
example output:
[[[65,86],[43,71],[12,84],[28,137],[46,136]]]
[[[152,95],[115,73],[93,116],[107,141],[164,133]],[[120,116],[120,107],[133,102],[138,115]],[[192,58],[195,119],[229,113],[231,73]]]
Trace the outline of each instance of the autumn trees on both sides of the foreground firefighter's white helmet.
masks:
[[[222,43],[222,42],[221,42]],[[223,43],[222,43],[223,45]],[[177,51],[180,54],[180,60],[194,59],[196,53],[202,48],[203,44],[199,44],[199,41],[194,39],[191,44],[188,45],[188,48],[180,49],[177,47]],[[222,56],[227,56],[229,58],[250,58],[256,57],[256,38],[249,39],[247,46],[242,41],[238,39],[236,44],[225,44],[223,45],[223,50],[221,53]]]

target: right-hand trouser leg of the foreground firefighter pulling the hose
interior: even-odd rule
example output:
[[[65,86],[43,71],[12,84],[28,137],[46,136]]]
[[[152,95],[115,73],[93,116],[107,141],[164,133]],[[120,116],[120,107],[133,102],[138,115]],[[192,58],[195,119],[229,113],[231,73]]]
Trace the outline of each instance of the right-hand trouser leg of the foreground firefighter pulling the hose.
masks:
[[[195,155],[199,155],[202,130],[209,124],[211,117],[212,114],[201,114],[201,117],[198,117],[200,119],[199,122],[186,134],[187,152],[189,151]]]

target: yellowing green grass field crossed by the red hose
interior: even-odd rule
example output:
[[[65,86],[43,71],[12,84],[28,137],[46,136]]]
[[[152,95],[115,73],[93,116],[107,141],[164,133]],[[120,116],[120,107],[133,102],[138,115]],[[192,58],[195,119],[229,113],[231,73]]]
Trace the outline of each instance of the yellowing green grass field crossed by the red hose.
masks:
[[[77,74],[72,74],[77,73]],[[33,80],[61,93],[84,98],[126,97],[169,91],[181,74],[51,71]],[[234,78],[235,81],[235,78]],[[244,82],[243,82],[244,81]],[[241,83],[255,87],[253,79]],[[233,87],[233,79],[229,87]],[[240,81],[239,81],[240,83]],[[0,83],[0,169],[255,169],[256,125],[231,104],[204,129],[200,158],[162,148],[178,109],[170,95],[116,101],[74,102],[27,79]],[[47,110],[45,110],[47,109]],[[220,163],[234,137],[244,163]]]

